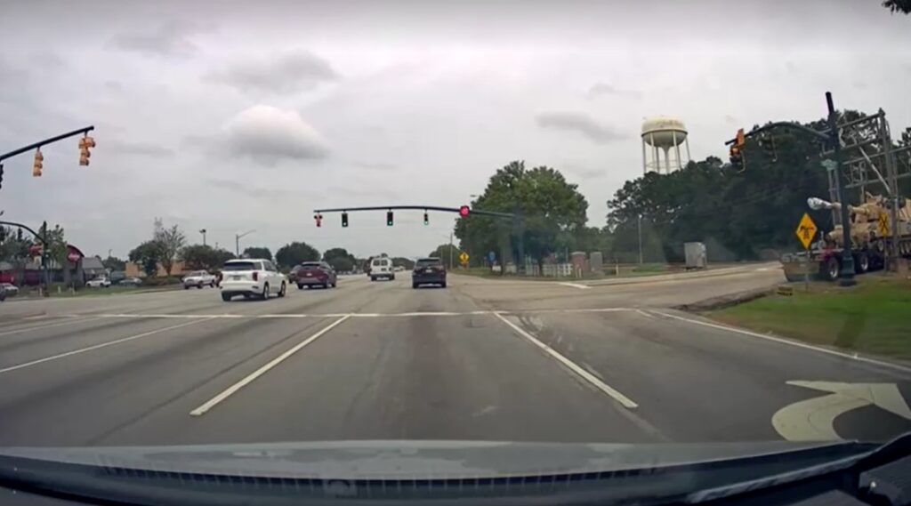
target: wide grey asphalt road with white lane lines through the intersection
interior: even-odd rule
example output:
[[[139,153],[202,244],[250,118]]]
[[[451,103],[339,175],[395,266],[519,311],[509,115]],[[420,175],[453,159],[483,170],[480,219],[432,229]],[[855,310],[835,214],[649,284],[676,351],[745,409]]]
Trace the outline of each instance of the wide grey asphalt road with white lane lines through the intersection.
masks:
[[[624,285],[340,278],[0,305],[0,445],[884,440],[911,368],[670,309],[776,268]]]

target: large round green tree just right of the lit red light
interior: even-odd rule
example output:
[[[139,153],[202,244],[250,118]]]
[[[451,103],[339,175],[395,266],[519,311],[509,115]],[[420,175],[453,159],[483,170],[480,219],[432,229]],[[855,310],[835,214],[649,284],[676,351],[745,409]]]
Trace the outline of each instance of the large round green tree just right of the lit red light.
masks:
[[[515,255],[517,238],[521,237],[525,253],[540,263],[548,254],[567,247],[563,239],[584,228],[589,203],[578,186],[568,183],[558,170],[527,170],[524,161],[514,161],[490,177],[484,194],[472,202],[472,207],[516,213],[522,217],[522,229],[502,218],[459,218],[455,236],[471,258],[507,249]]]

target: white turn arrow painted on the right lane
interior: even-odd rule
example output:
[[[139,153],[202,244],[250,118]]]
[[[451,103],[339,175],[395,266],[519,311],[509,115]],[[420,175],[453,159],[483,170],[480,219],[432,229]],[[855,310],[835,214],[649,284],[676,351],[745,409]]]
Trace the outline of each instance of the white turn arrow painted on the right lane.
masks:
[[[785,440],[841,440],[834,429],[835,418],[871,404],[911,420],[911,409],[895,383],[787,381],[787,384],[831,393],[794,402],[775,412],[772,425]]]

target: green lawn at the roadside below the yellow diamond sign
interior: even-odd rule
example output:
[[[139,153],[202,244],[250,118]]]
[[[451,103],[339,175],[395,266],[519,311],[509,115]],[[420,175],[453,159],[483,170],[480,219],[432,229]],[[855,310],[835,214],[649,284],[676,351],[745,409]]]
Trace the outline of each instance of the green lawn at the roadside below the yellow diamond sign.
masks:
[[[791,297],[773,295],[706,316],[814,344],[911,359],[911,281],[862,276],[854,288],[793,288]]]

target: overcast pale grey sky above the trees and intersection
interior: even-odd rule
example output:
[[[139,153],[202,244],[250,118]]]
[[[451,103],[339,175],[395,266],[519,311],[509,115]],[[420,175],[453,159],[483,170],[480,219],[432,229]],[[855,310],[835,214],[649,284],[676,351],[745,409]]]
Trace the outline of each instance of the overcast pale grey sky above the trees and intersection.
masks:
[[[59,223],[87,255],[125,258],[153,220],[234,249],[303,240],[423,256],[454,217],[314,208],[458,207],[513,160],[560,170],[604,225],[642,174],[640,128],[680,118],[691,157],[738,127],[886,111],[911,126],[911,16],[878,0],[740,3],[4,3],[3,219]]]

